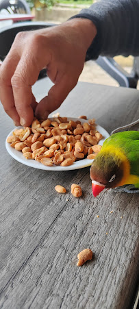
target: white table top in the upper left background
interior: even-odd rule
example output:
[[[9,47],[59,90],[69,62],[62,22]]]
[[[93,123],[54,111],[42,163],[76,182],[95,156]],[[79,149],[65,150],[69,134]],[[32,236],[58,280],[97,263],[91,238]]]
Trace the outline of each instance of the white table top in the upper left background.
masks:
[[[0,14],[0,21],[9,21],[12,19],[12,21],[29,21],[34,18],[34,15],[31,14]]]

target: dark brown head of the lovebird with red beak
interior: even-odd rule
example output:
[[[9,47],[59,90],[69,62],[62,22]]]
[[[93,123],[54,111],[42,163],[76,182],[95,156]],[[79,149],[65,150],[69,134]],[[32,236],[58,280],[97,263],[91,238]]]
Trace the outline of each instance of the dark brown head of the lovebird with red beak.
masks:
[[[123,178],[123,164],[113,153],[99,153],[90,168],[92,193],[97,197],[104,188],[115,188]]]

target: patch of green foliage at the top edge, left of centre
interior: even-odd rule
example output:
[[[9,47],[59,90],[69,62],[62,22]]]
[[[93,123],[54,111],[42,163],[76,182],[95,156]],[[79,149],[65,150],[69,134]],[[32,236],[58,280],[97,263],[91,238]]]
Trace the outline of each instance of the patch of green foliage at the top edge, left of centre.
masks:
[[[30,8],[36,8],[41,10],[41,8],[52,8],[55,3],[58,3],[58,0],[26,0],[29,3]]]

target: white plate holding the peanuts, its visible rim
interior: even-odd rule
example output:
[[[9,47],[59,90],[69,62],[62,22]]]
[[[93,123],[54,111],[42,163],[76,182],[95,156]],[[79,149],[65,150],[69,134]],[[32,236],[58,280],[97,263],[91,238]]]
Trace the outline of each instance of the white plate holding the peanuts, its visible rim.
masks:
[[[51,118],[50,118],[51,119]],[[73,120],[73,121],[81,121],[81,123],[84,122],[88,122],[87,120],[84,119],[77,119],[77,118],[71,118],[69,117],[68,120]],[[21,129],[21,127],[15,127],[14,129]],[[14,129],[12,129],[12,131],[10,132],[10,134],[8,134],[8,136],[12,135],[12,132],[14,131]],[[110,134],[108,134],[107,131],[105,131],[105,129],[103,129],[103,127],[101,127],[100,125],[97,125],[97,130],[102,134],[103,138],[99,141],[99,145],[103,145],[103,142],[106,138],[108,138],[110,136]],[[7,136],[7,138],[8,138]],[[6,140],[7,140],[6,138]],[[36,161],[36,160],[27,160],[25,159],[25,157],[23,156],[23,153],[21,151],[17,151],[16,149],[10,147],[10,143],[7,143],[5,140],[5,147],[8,151],[8,153],[10,153],[10,156],[12,156],[12,158],[14,158],[15,160],[17,160],[18,162],[21,162],[27,166],[31,166],[34,167],[35,169],[44,169],[46,171],[71,171],[73,169],[83,169],[86,166],[90,166],[92,164],[93,160],[88,160],[88,159],[83,159],[83,160],[79,160],[74,162],[72,165],[70,166],[45,166],[42,163]]]

